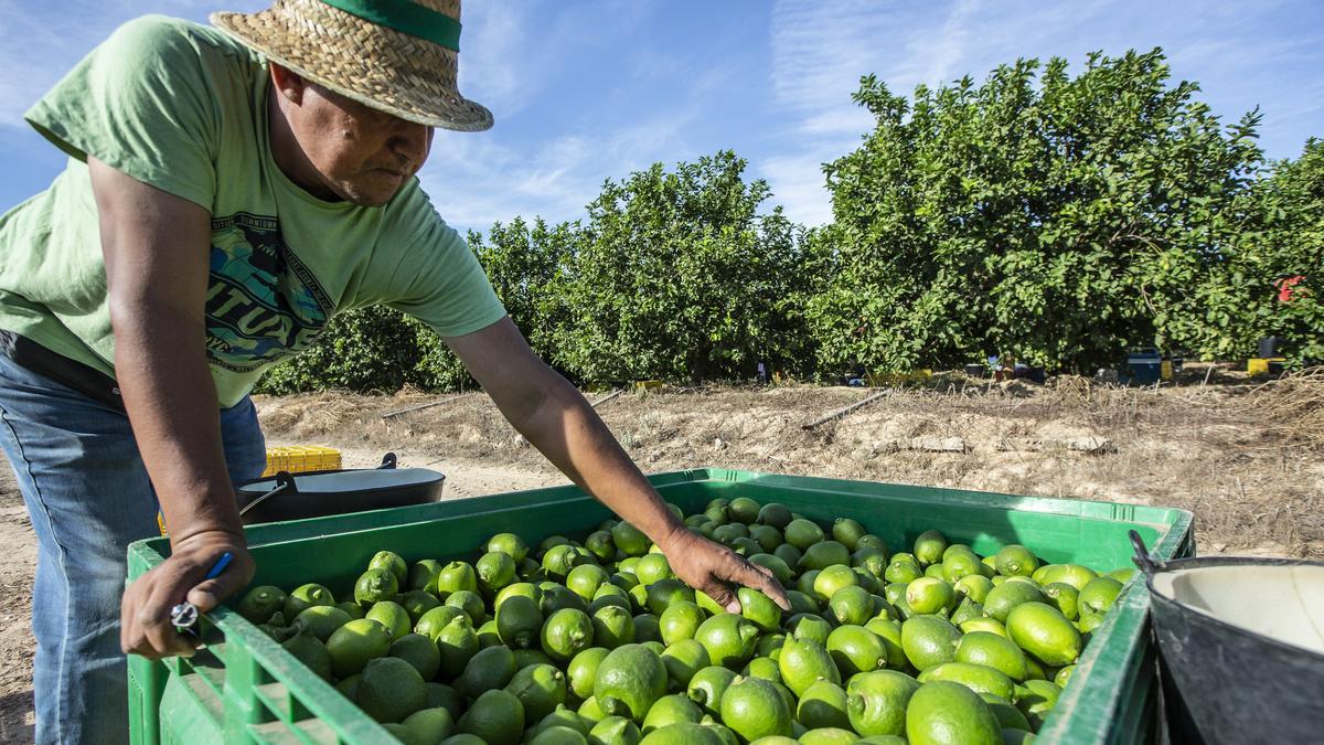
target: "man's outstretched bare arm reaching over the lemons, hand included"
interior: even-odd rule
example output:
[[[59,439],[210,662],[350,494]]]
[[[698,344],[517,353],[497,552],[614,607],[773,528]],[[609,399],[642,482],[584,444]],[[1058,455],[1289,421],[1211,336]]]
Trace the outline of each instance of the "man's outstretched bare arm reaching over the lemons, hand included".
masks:
[[[506,419],[580,488],[651,538],[677,577],[728,610],[740,608],[736,585],[790,607],[771,571],[695,536],[666,508],[593,407],[528,349],[508,318],[446,342]]]

